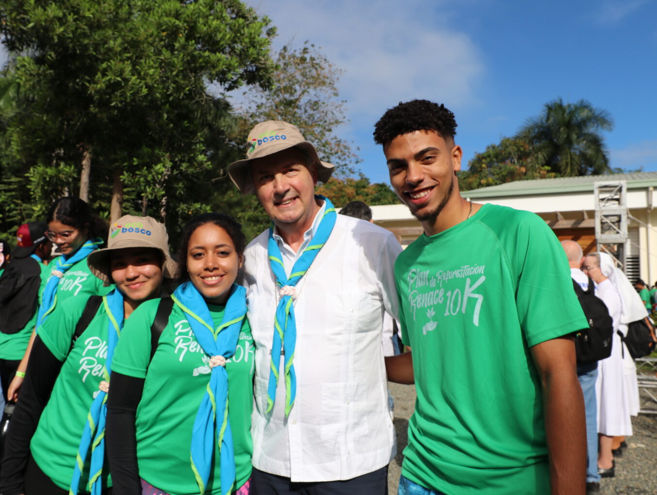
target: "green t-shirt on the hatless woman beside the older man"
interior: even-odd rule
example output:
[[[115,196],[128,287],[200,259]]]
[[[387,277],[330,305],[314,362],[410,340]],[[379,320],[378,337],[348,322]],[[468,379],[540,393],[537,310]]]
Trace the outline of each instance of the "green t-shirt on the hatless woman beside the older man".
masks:
[[[148,364],[150,326],[158,302],[141,304],[125,323],[112,359],[112,371],[146,379],[136,419],[139,476],[170,495],[198,495],[190,447],[196,412],[210,381],[210,358],[196,341],[185,314],[174,304]],[[224,307],[208,307],[216,327],[221,323]],[[226,364],[236,489],[251,475],[254,364],[251,328],[245,318],[235,356]],[[208,495],[221,493],[219,459],[217,445],[206,486]]]

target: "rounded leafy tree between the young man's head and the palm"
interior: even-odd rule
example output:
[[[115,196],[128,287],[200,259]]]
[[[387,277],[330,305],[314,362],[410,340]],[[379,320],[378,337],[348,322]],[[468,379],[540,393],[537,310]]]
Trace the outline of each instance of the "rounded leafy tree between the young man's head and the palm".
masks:
[[[468,169],[458,172],[461,191],[522,179],[556,177],[549,167],[536,165],[532,148],[517,137],[503,137],[499,144],[488,145],[475,154]]]

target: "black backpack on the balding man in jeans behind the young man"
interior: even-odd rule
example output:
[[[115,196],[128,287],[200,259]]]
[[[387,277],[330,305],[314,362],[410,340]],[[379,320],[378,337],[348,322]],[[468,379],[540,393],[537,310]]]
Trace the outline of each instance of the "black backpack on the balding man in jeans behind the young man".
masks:
[[[612,354],[614,321],[607,306],[593,292],[593,280],[589,277],[589,288],[584,291],[573,281],[579,304],[589,321],[589,328],[576,333],[575,352],[579,364],[587,364],[608,358]]]

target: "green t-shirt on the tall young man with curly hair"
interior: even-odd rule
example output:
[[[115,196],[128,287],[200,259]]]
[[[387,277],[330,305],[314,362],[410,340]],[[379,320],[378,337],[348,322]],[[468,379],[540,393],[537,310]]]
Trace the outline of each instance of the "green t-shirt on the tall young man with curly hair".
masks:
[[[411,244],[395,279],[417,390],[402,474],[447,495],[549,494],[529,348],[587,327],[554,233],[485,204]]]

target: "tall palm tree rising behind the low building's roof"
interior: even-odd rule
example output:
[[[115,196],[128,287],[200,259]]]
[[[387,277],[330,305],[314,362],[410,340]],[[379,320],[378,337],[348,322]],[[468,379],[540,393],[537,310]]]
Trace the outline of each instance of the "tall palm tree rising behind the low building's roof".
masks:
[[[548,166],[561,176],[610,172],[600,131],[614,127],[611,116],[586,100],[566,103],[557,98],[545,104],[541,116],[530,118],[518,137],[532,146],[535,166]]]

